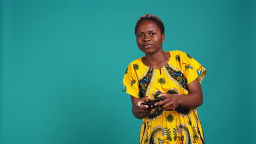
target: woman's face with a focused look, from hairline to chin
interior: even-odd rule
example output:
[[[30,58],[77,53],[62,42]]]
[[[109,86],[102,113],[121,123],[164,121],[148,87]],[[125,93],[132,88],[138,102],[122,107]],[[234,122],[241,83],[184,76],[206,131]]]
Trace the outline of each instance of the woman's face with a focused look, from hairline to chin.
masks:
[[[162,50],[165,34],[161,34],[161,29],[154,21],[143,20],[137,27],[136,39],[139,49],[150,54]]]

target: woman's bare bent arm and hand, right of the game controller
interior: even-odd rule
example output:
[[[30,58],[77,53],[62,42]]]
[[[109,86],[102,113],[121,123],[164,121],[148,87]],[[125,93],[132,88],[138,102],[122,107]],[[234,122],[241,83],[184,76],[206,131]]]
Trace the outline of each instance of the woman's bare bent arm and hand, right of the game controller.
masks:
[[[189,94],[160,93],[158,97],[164,97],[164,100],[155,105],[162,105],[162,108],[167,111],[175,110],[177,105],[184,107],[198,107],[202,105],[202,89],[198,79],[189,83],[188,91]]]

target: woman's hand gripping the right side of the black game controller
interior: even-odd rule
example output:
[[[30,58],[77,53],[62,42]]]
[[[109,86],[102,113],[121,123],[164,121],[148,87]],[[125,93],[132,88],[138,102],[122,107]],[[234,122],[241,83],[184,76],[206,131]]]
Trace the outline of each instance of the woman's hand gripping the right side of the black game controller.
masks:
[[[159,101],[155,105],[161,105],[162,109],[166,111],[173,111],[176,109],[179,101],[179,94],[160,93],[158,97],[164,97],[164,100]]]

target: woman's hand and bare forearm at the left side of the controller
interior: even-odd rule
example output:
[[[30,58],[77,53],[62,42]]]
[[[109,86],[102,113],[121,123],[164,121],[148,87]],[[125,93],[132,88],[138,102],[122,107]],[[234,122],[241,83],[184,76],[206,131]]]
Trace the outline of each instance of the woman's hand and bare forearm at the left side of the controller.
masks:
[[[142,99],[138,99],[131,95],[131,100],[132,100],[132,113],[136,118],[142,119],[149,115],[150,110],[147,110],[148,105],[141,105],[144,101],[150,100],[149,97],[143,97]]]

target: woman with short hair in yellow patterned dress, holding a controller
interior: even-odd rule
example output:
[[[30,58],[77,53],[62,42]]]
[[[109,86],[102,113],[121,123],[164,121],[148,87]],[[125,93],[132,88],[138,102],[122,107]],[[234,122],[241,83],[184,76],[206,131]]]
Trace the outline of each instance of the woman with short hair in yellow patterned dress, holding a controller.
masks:
[[[135,34],[145,56],[127,67],[123,91],[131,95],[133,115],[143,119],[139,143],[205,143],[197,107],[206,69],[187,53],[162,50],[165,28],[155,15],[139,17]],[[142,105],[159,97],[155,109]]]

